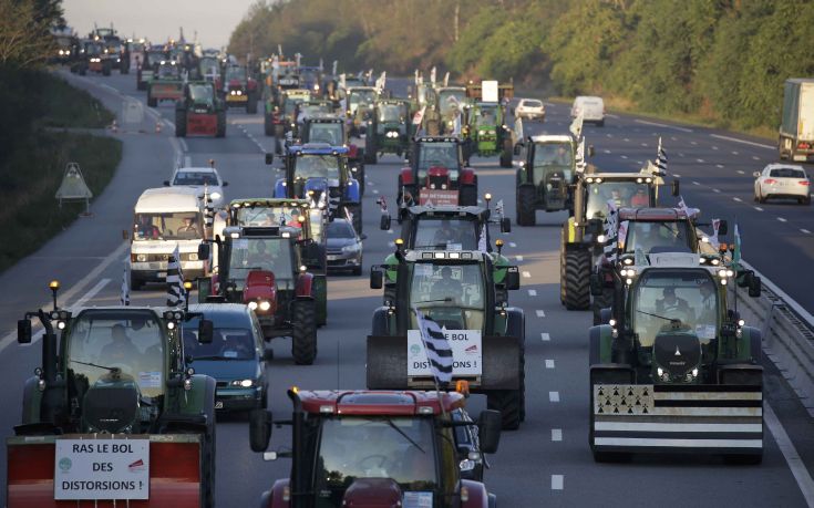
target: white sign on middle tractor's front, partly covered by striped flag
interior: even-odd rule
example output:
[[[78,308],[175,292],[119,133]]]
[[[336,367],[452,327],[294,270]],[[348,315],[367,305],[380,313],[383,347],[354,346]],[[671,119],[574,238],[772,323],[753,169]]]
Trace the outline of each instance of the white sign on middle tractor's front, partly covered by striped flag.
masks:
[[[483,372],[483,341],[480,330],[443,329],[452,349],[452,375],[481,375]],[[424,353],[421,332],[408,330],[408,375],[431,376],[430,361]]]

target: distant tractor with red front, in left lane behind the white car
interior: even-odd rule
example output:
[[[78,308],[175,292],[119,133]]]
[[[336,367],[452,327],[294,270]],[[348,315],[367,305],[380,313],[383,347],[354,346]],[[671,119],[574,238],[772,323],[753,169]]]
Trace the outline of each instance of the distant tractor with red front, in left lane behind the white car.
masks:
[[[175,103],[175,135],[226,136],[226,105],[209,81],[188,82],[184,96]]]

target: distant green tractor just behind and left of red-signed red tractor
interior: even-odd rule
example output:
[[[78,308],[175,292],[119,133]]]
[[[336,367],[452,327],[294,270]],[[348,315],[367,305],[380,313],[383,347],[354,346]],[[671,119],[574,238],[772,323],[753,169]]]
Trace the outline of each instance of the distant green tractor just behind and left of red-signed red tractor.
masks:
[[[364,163],[375,164],[380,154],[399,157],[410,149],[412,123],[410,103],[400,99],[380,99],[364,136]]]

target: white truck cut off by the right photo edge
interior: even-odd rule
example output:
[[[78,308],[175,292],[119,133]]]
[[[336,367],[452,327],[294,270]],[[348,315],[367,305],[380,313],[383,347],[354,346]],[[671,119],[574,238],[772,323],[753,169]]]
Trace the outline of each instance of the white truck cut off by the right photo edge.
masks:
[[[814,162],[813,77],[794,77],[783,85],[777,149],[781,159]]]

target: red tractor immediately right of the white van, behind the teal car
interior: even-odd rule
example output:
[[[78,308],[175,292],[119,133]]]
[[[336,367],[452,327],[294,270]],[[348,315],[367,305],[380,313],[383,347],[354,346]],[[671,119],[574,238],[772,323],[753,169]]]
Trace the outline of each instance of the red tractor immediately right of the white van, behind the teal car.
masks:
[[[224,228],[223,237],[198,248],[209,259],[217,248],[218,266],[210,279],[198,279],[200,302],[245,303],[257,314],[264,338],[291,338],[298,365],[317,357],[317,294],[315,276],[305,265],[303,250],[313,245],[300,239],[300,229],[280,226]]]

